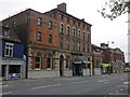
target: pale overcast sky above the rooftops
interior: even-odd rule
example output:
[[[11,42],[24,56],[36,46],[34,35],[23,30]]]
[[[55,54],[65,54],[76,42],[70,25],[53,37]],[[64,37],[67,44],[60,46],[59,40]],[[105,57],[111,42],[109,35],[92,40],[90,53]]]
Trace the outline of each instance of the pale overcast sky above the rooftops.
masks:
[[[109,43],[109,47],[119,47],[128,60],[128,15],[121,15],[114,20],[103,18],[98,10],[106,0],[0,0],[0,20],[15,15],[26,9],[44,13],[65,2],[67,13],[92,25],[92,43]],[[114,43],[112,43],[114,42]]]

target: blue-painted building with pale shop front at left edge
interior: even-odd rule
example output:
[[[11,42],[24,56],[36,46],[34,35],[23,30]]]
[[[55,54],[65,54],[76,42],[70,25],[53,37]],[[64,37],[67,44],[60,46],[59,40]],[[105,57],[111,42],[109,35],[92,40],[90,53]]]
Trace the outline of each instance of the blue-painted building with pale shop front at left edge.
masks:
[[[0,77],[3,80],[24,79],[24,45],[14,31],[10,31],[9,27],[1,27],[0,34]]]

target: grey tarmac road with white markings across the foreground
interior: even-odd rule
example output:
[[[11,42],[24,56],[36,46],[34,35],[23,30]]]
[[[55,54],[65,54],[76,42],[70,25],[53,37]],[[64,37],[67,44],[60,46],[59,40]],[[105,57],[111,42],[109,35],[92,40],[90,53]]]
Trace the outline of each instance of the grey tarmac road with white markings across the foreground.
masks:
[[[4,81],[2,95],[128,95],[128,74]]]

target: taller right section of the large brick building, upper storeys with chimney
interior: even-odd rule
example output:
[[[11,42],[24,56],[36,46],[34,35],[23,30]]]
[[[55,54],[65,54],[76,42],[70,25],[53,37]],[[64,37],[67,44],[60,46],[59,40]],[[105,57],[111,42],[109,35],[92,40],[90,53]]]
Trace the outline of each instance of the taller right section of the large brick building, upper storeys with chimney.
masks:
[[[58,25],[58,47],[62,50],[62,56],[65,60],[78,61],[91,60],[91,25],[84,19],[79,19],[66,12],[66,3],[58,4],[56,9],[46,12],[50,17],[56,19]],[[60,55],[61,56],[61,55]],[[80,59],[79,59],[80,58]],[[68,61],[67,60],[67,61]],[[75,68],[80,66],[72,66]]]

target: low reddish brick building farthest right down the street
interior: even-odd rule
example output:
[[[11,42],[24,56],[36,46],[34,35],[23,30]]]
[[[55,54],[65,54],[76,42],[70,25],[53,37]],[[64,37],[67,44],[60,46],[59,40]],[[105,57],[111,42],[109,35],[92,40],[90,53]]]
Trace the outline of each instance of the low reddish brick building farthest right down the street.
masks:
[[[113,72],[122,72],[125,67],[123,52],[118,47],[110,48],[108,44],[105,43],[101,43],[101,47],[104,48],[103,63],[110,64]]]

